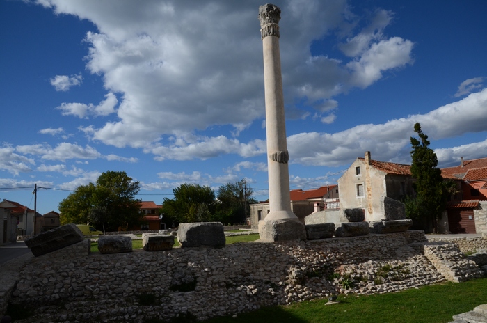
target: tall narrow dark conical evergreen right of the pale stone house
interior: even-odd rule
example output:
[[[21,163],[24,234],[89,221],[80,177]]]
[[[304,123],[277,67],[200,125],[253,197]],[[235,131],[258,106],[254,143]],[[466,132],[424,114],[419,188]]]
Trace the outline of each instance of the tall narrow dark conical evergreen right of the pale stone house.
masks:
[[[413,183],[415,198],[409,199],[409,202],[406,200],[406,211],[411,219],[422,223],[424,230],[430,233],[436,229],[437,219],[445,210],[445,185],[442,184],[441,170],[437,167],[438,158],[429,148],[428,136],[422,132],[420,123],[414,125],[414,131],[419,137],[419,140],[410,137],[413,147],[410,169],[416,180]]]

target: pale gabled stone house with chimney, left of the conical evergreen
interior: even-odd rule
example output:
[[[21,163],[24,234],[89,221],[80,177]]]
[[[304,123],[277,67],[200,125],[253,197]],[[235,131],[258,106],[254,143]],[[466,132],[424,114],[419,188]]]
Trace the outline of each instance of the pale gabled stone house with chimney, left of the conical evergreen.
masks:
[[[338,179],[340,210],[360,208],[365,221],[381,221],[385,197],[401,200],[413,195],[410,165],[376,161],[370,152],[357,158]]]

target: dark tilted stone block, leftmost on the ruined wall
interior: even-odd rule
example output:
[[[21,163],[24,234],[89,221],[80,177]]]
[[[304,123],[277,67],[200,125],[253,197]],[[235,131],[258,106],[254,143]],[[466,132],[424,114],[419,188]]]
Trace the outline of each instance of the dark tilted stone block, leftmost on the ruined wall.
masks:
[[[25,239],[35,257],[62,249],[84,240],[83,233],[74,223],[66,224]]]

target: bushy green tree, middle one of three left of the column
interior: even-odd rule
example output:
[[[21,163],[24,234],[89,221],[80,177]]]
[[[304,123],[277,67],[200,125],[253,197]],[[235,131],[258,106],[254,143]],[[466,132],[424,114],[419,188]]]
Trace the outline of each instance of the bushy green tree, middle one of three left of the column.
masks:
[[[215,192],[200,184],[187,184],[173,189],[174,198],[164,198],[163,212],[179,223],[216,221]]]

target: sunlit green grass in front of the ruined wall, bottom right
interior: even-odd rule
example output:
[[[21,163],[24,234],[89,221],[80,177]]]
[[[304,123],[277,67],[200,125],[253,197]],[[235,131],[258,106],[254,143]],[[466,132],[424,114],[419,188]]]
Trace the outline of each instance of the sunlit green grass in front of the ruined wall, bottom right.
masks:
[[[371,296],[340,295],[341,303],[324,305],[326,299],[303,301],[289,306],[261,308],[237,318],[216,317],[206,323],[445,323],[452,315],[487,303],[487,278],[464,283],[429,285],[419,290]]]

